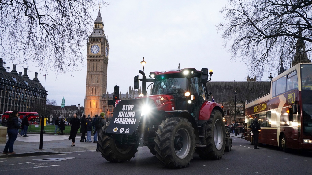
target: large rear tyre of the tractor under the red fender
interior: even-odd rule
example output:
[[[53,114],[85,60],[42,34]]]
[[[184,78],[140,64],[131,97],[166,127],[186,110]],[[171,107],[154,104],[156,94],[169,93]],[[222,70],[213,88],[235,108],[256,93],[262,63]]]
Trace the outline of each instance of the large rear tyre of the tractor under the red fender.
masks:
[[[212,110],[209,120],[203,125],[206,147],[196,147],[196,153],[203,159],[220,159],[225,149],[225,129],[222,114]]]

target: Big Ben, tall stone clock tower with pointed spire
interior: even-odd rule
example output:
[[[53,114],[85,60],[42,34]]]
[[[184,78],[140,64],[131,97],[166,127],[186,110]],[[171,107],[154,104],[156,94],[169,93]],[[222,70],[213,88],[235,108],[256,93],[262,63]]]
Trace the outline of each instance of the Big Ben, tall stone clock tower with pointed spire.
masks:
[[[106,92],[108,40],[104,34],[101,12],[94,21],[93,32],[87,43],[87,81],[85,88],[85,115],[90,117],[105,111],[105,101],[101,100]],[[107,103],[107,102],[106,102]]]

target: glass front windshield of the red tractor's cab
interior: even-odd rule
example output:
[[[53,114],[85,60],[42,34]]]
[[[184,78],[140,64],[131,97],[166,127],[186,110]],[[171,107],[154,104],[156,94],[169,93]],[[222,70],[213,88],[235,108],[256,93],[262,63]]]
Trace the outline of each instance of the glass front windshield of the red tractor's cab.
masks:
[[[187,91],[187,78],[156,78],[152,95],[184,94]]]

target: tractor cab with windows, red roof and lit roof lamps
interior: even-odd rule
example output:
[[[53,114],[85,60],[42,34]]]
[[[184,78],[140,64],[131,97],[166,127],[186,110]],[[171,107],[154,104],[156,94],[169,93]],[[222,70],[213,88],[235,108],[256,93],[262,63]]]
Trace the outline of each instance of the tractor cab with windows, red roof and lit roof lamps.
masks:
[[[198,119],[200,107],[208,95],[207,78],[201,83],[201,76],[202,71],[193,68],[151,72],[150,77],[155,78],[151,95],[172,95],[175,110],[186,110]]]

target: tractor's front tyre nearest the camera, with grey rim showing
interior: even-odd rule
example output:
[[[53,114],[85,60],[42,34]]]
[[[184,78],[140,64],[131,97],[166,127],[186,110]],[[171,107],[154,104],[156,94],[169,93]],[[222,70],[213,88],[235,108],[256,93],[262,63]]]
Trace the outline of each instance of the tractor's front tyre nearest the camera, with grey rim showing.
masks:
[[[167,118],[158,125],[155,151],[159,163],[168,168],[185,168],[193,159],[195,134],[185,118]]]

